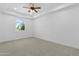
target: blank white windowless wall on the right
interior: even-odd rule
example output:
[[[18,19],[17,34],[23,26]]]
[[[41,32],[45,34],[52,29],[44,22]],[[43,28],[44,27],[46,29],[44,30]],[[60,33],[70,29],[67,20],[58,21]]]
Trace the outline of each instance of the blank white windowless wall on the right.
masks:
[[[34,28],[37,38],[79,48],[79,6],[39,17]]]

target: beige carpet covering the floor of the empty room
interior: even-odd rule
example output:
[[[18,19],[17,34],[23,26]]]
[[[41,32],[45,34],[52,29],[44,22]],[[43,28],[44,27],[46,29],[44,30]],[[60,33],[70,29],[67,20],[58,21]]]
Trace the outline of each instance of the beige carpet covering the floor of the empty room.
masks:
[[[44,41],[26,38],[0,43],[0,55],[6,56],[78,56],[79,49]]]

